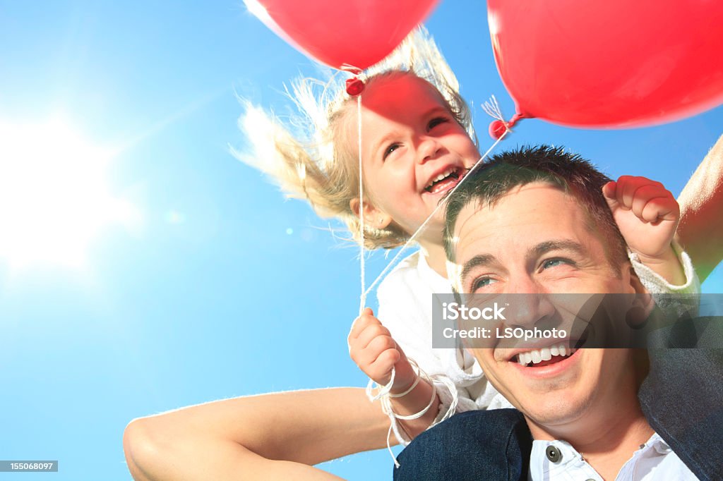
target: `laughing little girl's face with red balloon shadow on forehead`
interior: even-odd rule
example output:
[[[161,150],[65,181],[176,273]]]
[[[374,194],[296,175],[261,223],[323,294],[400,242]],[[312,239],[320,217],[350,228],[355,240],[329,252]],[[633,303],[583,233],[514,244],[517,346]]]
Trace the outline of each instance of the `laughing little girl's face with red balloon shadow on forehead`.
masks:
[[[414,233],[479,152],[437,90],[414,75],[377,79],[361,105],[364,188],[371,200],[365,220],[376,228],[395,222]],[[356,139],[355,106],[349,114],[348,135]],[[440,209],[422,239],[441,240],[443,217]]]

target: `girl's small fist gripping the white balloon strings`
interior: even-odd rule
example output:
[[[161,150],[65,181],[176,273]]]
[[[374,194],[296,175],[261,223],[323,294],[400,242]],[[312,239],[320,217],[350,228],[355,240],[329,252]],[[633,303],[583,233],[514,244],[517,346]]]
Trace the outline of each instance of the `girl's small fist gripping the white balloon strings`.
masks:
[[[375,318],[372,309],[365,308],[354,320],[347,339],[349,355],[361,371],[380,386],[388,384],[395,369],[391,393],[406,391],[416,378],[401,347],[392,339],[389,330]]]

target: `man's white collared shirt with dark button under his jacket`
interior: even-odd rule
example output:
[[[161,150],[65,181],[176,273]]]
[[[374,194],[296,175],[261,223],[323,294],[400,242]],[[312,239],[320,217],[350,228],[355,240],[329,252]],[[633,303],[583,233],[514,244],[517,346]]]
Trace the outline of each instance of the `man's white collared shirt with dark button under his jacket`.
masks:
[[[565,441],[532,443],[529,480],[603,481],[602,476]],[[657,433],[633,453],[615,477],[615,481],[653,480],[698,480]]]

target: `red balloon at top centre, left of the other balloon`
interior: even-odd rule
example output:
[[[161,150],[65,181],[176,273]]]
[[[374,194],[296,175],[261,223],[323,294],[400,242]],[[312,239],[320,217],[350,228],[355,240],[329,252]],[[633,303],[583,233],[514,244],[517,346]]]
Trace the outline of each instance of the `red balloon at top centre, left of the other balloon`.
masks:
[[[388,56],[437,0],[244,0],[284,40],[318,61],[366,69]],[[259,11],[258,4],[265,8]],[[265,14],[268,14],[266,16]]]

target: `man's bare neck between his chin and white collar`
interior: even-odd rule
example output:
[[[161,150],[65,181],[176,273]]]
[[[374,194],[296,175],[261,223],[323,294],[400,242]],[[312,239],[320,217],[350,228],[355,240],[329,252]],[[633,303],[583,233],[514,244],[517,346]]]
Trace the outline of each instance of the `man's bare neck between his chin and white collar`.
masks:
[[[633,402],[623,399],[594,419],[585,417],[568,425],[545,428],[529,420],[528,424],[535,439],[567,441],[604,480],[615,480],[623,464],[654,433],[637,397],[628,401]]]

